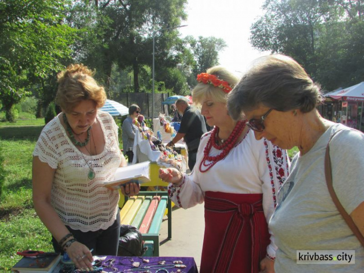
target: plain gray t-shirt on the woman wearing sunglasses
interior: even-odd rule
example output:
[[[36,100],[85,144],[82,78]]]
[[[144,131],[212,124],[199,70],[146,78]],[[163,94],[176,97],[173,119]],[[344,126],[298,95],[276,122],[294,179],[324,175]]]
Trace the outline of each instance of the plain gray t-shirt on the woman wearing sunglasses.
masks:
[[[332,181],[350,214],[364,202],[364,135],[333,124],[302,156],[297,154],[290,175],[278,193],[280,204],[269,226],[278,251],[277,273],[364,272],[364,248],[336,209],[325,179],[325,151],[330,136]],[[296,250],[355,250],[355,264],[297,264]]]

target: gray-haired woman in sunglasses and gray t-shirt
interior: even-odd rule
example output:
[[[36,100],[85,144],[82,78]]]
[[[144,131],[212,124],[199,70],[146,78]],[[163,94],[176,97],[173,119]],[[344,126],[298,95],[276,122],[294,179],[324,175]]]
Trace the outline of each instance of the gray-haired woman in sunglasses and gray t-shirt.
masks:
[[[292,58],[259,58],[228,97],[233,118],[255,137],[298,147],[269,227],[278,246],[275,272],[363,272],[364,247],[336,209],[325,179],[330,137],[332,181],[339,201],[364,234],[364,135],[324,119],[319,85]]]

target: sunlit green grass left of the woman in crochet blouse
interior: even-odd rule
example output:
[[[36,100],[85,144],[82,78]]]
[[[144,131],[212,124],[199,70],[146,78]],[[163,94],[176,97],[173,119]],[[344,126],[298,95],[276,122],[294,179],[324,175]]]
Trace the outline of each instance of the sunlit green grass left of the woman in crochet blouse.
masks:
[[[0,201],[0,272],[9,272],[19,260],[17,251],[53,249],[50,233],[36,216],[32,201],[32,153],[39,133],[26,139],[28,126],[12,129],[16,129],[14,136],[0,140],[6,171]]]

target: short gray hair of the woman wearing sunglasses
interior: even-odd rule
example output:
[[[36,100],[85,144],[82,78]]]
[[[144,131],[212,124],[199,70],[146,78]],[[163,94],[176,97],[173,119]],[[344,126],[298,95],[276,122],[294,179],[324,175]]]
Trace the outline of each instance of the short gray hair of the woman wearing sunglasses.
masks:
[[[261,105],[277,111],[312,111],[322,102],[320,85],[315,84],[294,59],[280,54],[258,58],[253,67],[228,95],[233,119]]]

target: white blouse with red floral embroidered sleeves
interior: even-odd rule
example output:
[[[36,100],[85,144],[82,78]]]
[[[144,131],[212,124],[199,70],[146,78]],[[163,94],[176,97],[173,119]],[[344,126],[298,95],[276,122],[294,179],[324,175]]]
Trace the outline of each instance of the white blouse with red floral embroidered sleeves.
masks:
[[[218,161],[209,171],[199,171],[203,151],[212,131],[201,137],[194,171],[184,175],[180,186],[169,184],[168,193],[178,206],[189,208],[204,201],[206,191],[225,193],[263,193],[263,209],[269,222],[276,206],[276,196],[288,176],[289,159],[285,150],[264,139],[256,140],[254,132],[249,129],[247,135],[235,145],[230,153]],[[220,151],[211,148],[210,156]],[[208,164],[209,161],[206,162]],[[202,170],[204,170],[204,167]],[[275,257],[277,250],[274,236],[267,254]]]

